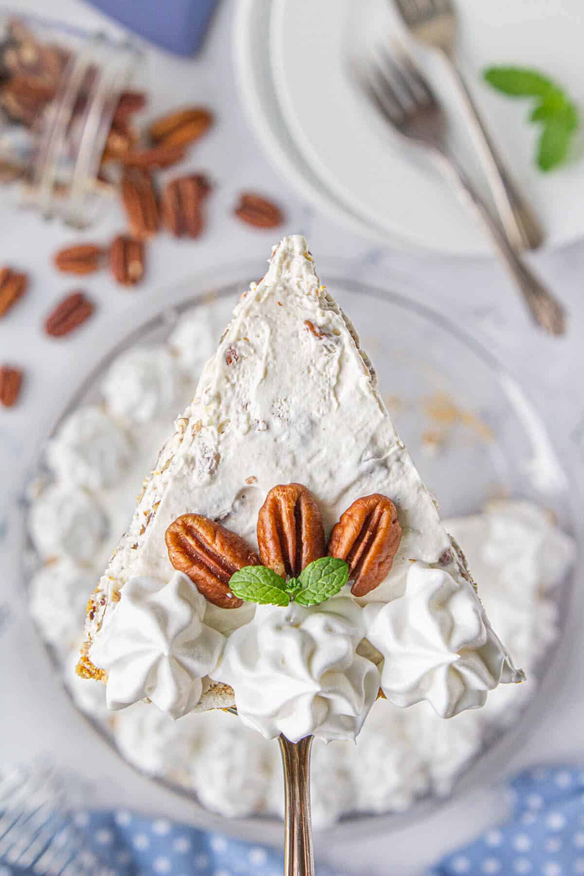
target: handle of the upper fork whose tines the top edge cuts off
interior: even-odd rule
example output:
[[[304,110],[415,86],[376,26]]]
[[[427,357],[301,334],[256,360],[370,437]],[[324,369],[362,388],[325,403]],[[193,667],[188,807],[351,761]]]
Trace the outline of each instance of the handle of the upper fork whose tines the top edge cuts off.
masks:
[[[489,132],[482,122],[473,96],[462,77],[460,67],[446,52],[441,50],[441,54],[447,61],[447,66],[461,96],[462,105],[467,112],[475,148],[482,161],[482,168],[489,182],[491,194],[507,237],[517,249],[535,250],[544,240],[541,225],[524,196],[519,193],[516,184],[503,164],[503,159],[496,150],[495,144],[489,137]]]

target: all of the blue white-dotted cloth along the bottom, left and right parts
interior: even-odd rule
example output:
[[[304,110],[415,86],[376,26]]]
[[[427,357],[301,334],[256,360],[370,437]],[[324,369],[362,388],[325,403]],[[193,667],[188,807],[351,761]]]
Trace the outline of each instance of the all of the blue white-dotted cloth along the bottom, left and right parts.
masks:
[[[427,876],[584,876],[584,768],[535,767],[511,782],[510,820],[450,852]],[[76,812],[83,860],[109,876],[281,876],[277,851],[126,810]],[[60,823],[60,827],[62,824]],[[424,825],[420,823],[420,836]],[[326,867],[318,876],[338,876]],[[0,876],[33,876],[0,858]]]

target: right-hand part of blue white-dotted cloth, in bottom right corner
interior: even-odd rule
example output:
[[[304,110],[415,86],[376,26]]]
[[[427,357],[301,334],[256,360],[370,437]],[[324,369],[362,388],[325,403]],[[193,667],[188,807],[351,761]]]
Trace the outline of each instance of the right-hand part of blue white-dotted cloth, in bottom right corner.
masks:
[[[584,769],[531,768],[511,788],[510,821],[448,854],[428,876],[584,873]]]

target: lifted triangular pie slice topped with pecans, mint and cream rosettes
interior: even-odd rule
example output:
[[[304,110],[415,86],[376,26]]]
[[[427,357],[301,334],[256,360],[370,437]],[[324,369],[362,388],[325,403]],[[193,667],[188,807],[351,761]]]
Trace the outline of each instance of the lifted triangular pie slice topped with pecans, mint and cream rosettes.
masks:
[[[327,554],[347,566],[341,590],[325,587]],[[242,568],[264,569],[256,602],[270,601],[264,573],[287,595],[236,596]],[[304,237],[285,237],[243,293],[144,481],[86,632],[77,671],[108,682],[111,708],[150,698],[179,717],[237,704],[264,735],[292,739],[355,736],[379,689],[449,717],[523,678]]]

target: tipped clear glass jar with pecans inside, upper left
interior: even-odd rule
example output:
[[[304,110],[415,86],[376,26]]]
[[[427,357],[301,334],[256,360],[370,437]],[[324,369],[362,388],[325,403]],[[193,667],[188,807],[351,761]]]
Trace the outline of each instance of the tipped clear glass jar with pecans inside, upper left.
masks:
[[[77,228],[100,213],[137,139],[140,60],[127,41],[0,11],[0,183],[20,203]]]

